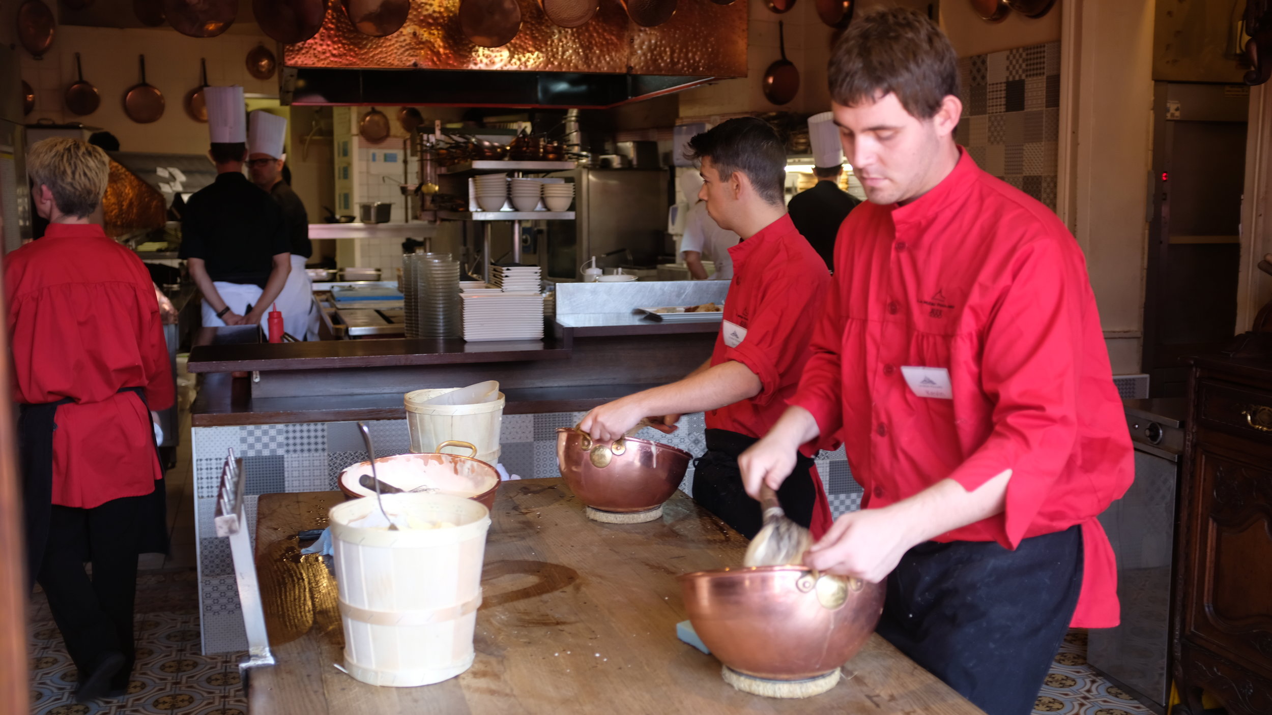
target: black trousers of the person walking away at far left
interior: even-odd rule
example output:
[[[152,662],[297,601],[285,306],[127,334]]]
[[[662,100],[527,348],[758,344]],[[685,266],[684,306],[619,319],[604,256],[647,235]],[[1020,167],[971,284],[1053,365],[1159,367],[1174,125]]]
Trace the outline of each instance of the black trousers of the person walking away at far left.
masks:
[[[126,496],[93,509],[53,505],[36,578],[81,679],[103,655],[123,654],[112,690],[127,687],[132,672],[137,542],[149,499]],[[93,564],[92,578],[85,561]]]

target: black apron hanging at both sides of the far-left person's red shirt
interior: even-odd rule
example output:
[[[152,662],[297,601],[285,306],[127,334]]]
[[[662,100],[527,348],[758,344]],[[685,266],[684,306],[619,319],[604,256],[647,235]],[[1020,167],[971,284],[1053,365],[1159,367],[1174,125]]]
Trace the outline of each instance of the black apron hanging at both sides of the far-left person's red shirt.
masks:
[[[145,391],[140,387],[126,387],[120,392],[131,392],[141,399],[150,411]],[[48,520],[53,506],[53,431],[57,429],[57,408],[75,402],[71,398],[41,405],[22,405],[18,417],[18,454],[22,463],[23,515],[27,524],[27,587],[31,589],[45,560],[45,546],[48,542]],[[154,431],[150,434],[154,444]],[[155,461],[159,448],[154,447]],[[160,463],[159,473],[163,475]],[[137,553],[168,553],[168,495],[164,480],[155,481],[155,489],[148,495],[142,509],[141,534]],[[85,559],[88,555],[85,553]]]

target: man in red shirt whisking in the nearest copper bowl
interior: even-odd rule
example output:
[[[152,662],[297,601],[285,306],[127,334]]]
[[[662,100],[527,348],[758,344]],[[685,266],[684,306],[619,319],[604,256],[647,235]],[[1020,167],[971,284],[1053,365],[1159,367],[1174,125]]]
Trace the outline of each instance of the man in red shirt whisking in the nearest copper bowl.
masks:
[[[842,439],[864,509],[805,564],[888,578],[879,634],[990,715],[1025,715],[1070,625],[1118,623],[1096,515],[1133,463],[1082,253],[954,142],[958,83],[911,10],[836,43],[834,121],[869,202],[840,229],[791,407],[739,462],[756,494],[794,447]]]

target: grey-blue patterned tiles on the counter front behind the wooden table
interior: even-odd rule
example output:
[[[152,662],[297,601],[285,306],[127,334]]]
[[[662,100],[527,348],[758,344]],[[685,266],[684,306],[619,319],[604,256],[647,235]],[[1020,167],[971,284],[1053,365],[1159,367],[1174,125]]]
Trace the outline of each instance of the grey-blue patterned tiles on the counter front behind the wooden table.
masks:
[[[544,415],[506,415],[500,427],[500,462],[509,475],[522,478],[560,476],[556,459],[556,430],[579,424],[583,412]],[[406,420],[368,422],[379,454],[411,450]],[[705,422],[701,413],[686,415],[681,429],[670,435],[646,427],[637,433],[679,447],[695,457],[706,450]],[[331,491],[345,467],[366,459],[366,448],[356,422],[314,422],[296,425],[249,425],[239,427],[195,427],[195,531],[198,538],[200,607],[202,611],[202,651],[226,653],[247,649],[234,566],[229,541],[218,538],[212,528],[216,485],[225,450],[243,458],[247,495],[248,533],[256,533],[256,503],[259,495],[295,491]],[[817,459],[818,473],[831,499],[836,517],[861,506],[861,486],[852,480],[843,449],[823,452]],[[689,494],[693,467],[681,489]]]

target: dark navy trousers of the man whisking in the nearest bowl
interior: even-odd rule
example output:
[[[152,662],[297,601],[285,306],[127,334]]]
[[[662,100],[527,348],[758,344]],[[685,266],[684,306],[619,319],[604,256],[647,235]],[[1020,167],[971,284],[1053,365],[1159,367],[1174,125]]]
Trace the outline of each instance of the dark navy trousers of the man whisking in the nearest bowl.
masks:
[[[1080,527],[921,543],[888,576],[876,631],[988,715],[1028,715],[1082,587]]]

